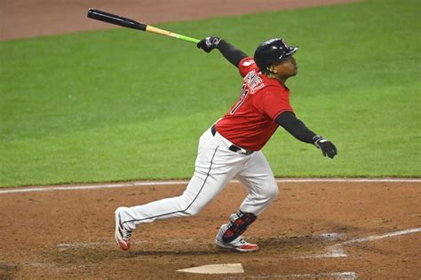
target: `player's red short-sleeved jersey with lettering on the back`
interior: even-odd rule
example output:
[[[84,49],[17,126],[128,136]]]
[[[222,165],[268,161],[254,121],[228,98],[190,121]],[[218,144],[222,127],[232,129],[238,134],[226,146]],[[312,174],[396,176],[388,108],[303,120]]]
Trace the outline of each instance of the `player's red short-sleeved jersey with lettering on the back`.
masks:
[[[293,113],[290,89],[259,73],[253,58],[243,58],[238,69],[244,80],[242,92],[216,128],[233,144],[258,151],[278,128],[276,117],[285,111]]]

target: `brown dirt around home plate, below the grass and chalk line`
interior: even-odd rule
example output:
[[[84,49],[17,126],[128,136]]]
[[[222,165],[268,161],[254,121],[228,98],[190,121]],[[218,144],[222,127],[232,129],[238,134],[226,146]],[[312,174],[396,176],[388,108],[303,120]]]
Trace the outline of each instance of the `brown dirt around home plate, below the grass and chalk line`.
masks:
[[[134,232],[130,253],[115,245],[115,208],[179,195],[184,184],[0,194],[0,278],[270,279],[355,272],[359,278],[416,279],[421,276],[419,232],[344,245],[347,257],[308,257],[346,240],[419,228],[420,187],[280,183],[279,198],[245,235],[260,245],[258,253],[229,253],[213,245],[218,226],[245,196],[238,183],[229,184],[198,216],[143,225]],[[340,239],[319,237],[332,232]],[[242,263],[245,273],[176,272],[216,263]]]

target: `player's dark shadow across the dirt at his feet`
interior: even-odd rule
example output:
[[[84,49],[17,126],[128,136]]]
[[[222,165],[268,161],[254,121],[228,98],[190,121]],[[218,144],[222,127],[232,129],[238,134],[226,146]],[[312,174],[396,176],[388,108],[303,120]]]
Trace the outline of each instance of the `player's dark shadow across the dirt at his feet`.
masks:
[[[285,255],[299,253],[314,253],[326,245],[333,244],[335,240],[324,237],[258,237],[249,238],[251,243],[257,243],[259,252],[277,251]],[[210,256],[238,253],[219,249],[213,242],[207,240],[188,240],[174,242],[139,242],[131,245],[131,251],[123,252],[111,243],[95,243],[94,245],[60,246],[49,250],[45,254],[57,263],[96,263],[112,260],[114,258],[136,258],[141,256]]]

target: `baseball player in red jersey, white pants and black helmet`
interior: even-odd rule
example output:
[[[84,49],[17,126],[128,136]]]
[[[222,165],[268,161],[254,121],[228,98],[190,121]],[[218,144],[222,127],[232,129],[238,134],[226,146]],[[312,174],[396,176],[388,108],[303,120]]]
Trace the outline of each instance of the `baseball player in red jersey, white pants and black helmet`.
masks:
[[[140,224],[199,214],[235,177],[248,195],[220,227],[215,243],[228,250],[257,251],[258,245],[246,242],[242,233],[278,194],[274,174],[260,151],[276,129],[281,126],[331,159],[337,154],[335,145],[306,128],[290,105],[285,82],[298,73],[293,57],[297,47],[282,39],[268,40],[258,45],[254,58],[218,37],[206,37],[197,47],[206,52],[218,49],[238,67],[243,78],[240,97],[200,137],[195,173],[182,195],[115,210],[115,241],[123,250],[130,249],[131,232]]]

